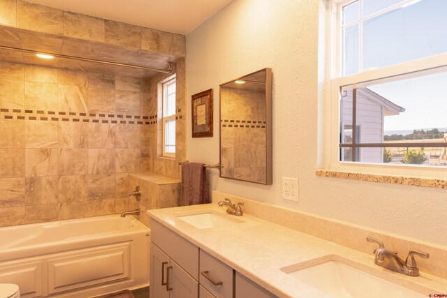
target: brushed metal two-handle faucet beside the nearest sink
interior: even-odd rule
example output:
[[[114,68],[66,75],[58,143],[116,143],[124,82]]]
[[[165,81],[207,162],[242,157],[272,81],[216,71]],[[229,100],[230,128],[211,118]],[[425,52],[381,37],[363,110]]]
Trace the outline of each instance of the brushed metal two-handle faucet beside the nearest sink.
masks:
[[[376,248],[374,251],[374,255],[376,255],[374,264],[408,276],[419,276],[419,269],[416,267],[414,255],[418,255],[420,258],[424,259],[430,258],[428,253],[423,253],[422,251],[409,251],[406,260],[404,261],[399,258],[396,251],[389,251],[386,249],[382,241],[372,237],[366,237],[366,241],[379,244],[379,248]]]

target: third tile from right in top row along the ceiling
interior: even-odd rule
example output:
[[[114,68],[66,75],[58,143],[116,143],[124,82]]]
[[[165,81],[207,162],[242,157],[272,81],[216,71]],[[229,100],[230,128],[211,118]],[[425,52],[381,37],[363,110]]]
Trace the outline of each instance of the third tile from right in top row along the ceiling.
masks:
[[[105,20],[105,43],[141,49],[141,27]]]

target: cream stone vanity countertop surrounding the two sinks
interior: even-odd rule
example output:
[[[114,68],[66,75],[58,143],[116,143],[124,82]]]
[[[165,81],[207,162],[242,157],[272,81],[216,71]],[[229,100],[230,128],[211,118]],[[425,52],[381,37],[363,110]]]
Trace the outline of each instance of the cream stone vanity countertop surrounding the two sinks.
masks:
[[[198,229],[177,218],[179,214],[203,211],[237,218],[242,223],[228,221],[214,228]],[[159,221],[279,297],[325,297],[323,292],[285,272],[328,260],[339,260],[424,295],[447,293],[447,282],[442,278],[423,272],[418,277],[405,276],[374,265],[373,254],[361,253],[247,214],[233,216],[225,211],[226,208],[217,204],[201,204],[152,209],[147,213],[152,220]]]

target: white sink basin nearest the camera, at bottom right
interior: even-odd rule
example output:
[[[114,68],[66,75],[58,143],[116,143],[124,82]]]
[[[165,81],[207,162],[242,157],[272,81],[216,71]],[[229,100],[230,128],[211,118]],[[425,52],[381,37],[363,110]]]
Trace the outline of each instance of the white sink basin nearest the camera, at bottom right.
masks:
[[[427,297],[337,261],[324,262],[286,273],[334,298]]]

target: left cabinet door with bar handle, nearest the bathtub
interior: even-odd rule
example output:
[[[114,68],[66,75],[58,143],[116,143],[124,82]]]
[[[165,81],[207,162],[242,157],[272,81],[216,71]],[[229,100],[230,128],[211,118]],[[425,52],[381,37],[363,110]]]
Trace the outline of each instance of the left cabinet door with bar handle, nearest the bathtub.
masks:
[[[168,281],[169,257],[160,248],[151,243],[151,281],[150,297],[169,298],[166,283]]]

